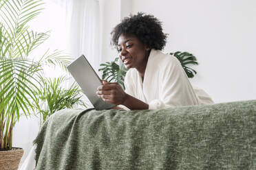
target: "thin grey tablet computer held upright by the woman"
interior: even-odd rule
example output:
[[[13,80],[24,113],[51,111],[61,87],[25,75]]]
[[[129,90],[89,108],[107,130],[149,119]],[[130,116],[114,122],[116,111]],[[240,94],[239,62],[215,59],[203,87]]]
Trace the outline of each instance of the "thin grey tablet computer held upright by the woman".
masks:
[[[102,81],[85,56],[82,55],[74,60],[74,62],[67,66],[67,70],[70,71],[74,80],[76,80],[96,110],[105,110],[116,106],[108,104],[96,95],[97,88],[102,85]]]

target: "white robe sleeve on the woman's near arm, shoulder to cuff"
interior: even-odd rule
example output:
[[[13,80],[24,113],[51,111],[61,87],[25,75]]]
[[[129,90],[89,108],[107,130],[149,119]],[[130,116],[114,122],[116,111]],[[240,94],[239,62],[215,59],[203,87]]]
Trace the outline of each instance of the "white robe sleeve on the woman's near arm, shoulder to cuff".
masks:
[[[199,104],[198,97],[177,58],[171,57],[168,62],[164,62],[159,76],[159,99],[149,102],[150,110]]]

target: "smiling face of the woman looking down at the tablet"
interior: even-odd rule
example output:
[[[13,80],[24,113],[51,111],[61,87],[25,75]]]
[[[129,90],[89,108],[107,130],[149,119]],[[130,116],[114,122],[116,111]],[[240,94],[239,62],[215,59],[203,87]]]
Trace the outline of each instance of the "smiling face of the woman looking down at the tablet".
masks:
[[[118,38],[119,58],[127,69],[145,71],[149,48],[134,35],[121,34]]]

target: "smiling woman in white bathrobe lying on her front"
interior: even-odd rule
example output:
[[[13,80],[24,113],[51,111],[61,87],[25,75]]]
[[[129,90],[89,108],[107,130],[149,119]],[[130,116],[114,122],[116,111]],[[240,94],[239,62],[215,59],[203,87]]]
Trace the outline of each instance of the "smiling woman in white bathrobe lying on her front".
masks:
[[[193,89],[177,58],[162,53],[167,34],[152,15],[127,17],[111,32],[111,45],[129,69],[125,91],[117,83],[103,82],[96,94],[104,101],[130,110],[211,104],[211,97]]]

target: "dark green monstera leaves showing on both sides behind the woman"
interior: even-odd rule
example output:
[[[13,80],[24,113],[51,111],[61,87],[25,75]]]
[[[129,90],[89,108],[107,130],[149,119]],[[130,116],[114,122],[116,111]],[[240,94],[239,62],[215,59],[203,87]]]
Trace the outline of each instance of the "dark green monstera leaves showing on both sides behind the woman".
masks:
[[[188,66],[188,64],[198,65],[197,59],[193,54],[188,52],[177,51],[175,53],[169,53],[172,56],[175,56],[180,61],[182,68],[184,69],[186,75],[189,78],[193,78],[197,73],[194,69]],[[118,62],[118,58],[115,58],[112,62],[105,62],[100,64],[102,68],[98,69],[98,71],[103,71],[102,79],[107,80],[108,82],[118,82],[125,89],[124,80],[127,69],[123,64],[120,66],[116,63]]]

